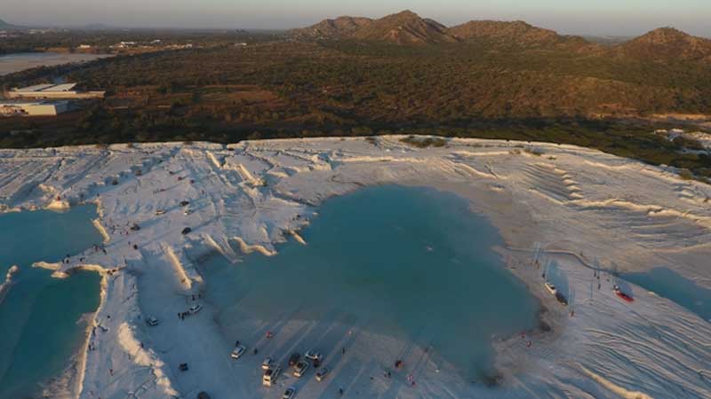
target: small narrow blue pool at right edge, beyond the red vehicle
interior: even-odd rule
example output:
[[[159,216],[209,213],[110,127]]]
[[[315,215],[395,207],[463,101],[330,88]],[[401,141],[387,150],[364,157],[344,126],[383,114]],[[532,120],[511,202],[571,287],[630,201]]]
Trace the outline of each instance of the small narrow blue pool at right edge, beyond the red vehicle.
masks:
[[[683,278],[674,270],[656,268],[644,273],[627,273],[622,277],[711,322],[711,290]]]

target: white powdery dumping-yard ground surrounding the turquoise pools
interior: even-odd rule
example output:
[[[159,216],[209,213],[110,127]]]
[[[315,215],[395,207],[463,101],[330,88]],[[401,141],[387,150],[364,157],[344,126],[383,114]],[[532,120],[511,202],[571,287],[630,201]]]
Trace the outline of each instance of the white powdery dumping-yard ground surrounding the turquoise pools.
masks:
[[[624,281],[636,301],[620,301],[611,293],[615,278],[602,272],[598,289],[590,269],[666,267],[711,288],[710,186],[569,145],[451,139],[417,149],[400,138],[0,150],[0,210],[99,207],[94,223],[106,254],[89,250],[44,265],[58,276],[105,270],[100,309],[76,376],[67,379],[76,386],[64,389],[83,399],[195,398],[202,390],[215,398],[276,398],[294,383],[304,398],[333,397],[339,387],[346,397],[368,398],[711,397],[709,321]],[[249,333],[228,336],[217,310],[201,301],[205,257],[220,254],[240,267],[244,254],[276,254],[277,243],[300,239],[322,201],[373,184],[455,192],[499,229],[507,244],[500,253],[539,297],[551,328],[495,340],[499,387],[461,379],[435,349],[348,320],[284,315],[244,321]],[[134,223],[140,230],[131,230]],[[537,247],[571,307],[543,289],[540,263],[531,262]],[[197,302],[200,313],[179,317]],[[149,327],[150,316],[161,324]],[[267,340],[267,331],[278,333]],[[231,360],[236,338],[259,347],[260,356]],[[285,376],[276,388],[260,386],[262,356],[284,362],[316,340],[332,367],[329,379]],[[384,378],[398,357],[407,369]]]

